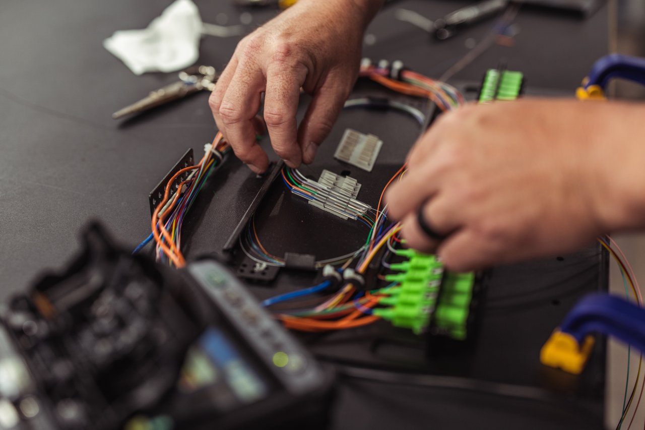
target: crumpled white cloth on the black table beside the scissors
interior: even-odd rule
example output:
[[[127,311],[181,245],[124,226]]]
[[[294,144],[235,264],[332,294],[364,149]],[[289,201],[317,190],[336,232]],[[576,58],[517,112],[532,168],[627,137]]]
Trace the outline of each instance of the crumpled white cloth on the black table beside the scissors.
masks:
[[[117,31],[103,46],[140,75],[176,72],[199,57],[202,21],[192,0],[176,0],[144,30]]]

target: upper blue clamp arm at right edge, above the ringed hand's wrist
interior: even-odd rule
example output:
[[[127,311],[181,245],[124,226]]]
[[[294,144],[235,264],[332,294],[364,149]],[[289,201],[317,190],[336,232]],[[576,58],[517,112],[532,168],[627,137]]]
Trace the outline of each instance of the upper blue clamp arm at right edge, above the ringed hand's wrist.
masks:
[[[645,85],[645,58],[610,54],[596,61],[591,68],[584,88],[598,85],[603,90],[615,77]]]

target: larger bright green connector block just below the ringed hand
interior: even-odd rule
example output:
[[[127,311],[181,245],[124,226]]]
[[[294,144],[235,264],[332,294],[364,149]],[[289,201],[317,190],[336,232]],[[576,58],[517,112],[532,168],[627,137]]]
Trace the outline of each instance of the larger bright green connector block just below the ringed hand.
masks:
[[[393,263],[390,267],[399,273],[385,279],[399,285],[387,291],[379,302],[386,307],[374,309],[374,315],[415,334],[424,333],[432,323],[437,334],[464,340],[475,274],[444,273],[435,256],[411,249],[399,250],[397,255],[408,260]]]

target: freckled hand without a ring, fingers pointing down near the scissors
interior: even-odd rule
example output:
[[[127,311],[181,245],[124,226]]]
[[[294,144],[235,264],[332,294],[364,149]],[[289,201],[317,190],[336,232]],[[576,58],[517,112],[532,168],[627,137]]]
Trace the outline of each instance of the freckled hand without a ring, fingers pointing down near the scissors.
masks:
[[[362,34],[382,0],[301,0],[237,45],[209,104],[235,155],[253,172],[268,168],[255,142],[264,122],[275,153],[290,167],[311,163],[352,90]],[[300,88],[313,99],[297,128]]]

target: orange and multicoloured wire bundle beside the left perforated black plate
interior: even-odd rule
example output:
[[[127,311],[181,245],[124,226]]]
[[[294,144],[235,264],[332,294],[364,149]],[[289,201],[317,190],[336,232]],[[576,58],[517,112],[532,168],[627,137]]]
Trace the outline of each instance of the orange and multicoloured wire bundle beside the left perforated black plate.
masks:
[[[168,180],[161,203],[152,214],[152,240],[155,241],[157,261],[167,262],[175,267],[183,267],[186,263],[181,253],[181,227],[188,210],[195,202],[213,168],[221,164],[223,156],[230,150],[217,133],[212,144],[204,147],[204,156],[197,165],[184,167]],[[175,186],[173,184],[182,174],[190,172],[188,177]],[[135,252],[142,249],[150,238],[144,240]]]

